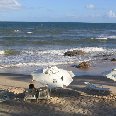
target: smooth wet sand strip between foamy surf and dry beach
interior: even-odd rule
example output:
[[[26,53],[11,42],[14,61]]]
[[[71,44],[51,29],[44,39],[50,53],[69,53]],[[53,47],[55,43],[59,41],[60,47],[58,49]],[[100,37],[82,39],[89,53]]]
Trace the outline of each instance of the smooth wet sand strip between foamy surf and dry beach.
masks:
[[[109,73],[113,68],[116,68],[116,61],[90,61],[91,66],[88,69],[79,69],[74,67],[73,65],[78,65],[79,63],[67,63],[67,64],[59,64],[59,65],[50,65],[50,66],[57,66],[58,68],[62,68],[64,70],[72,71],[75,76],[83,76],[83,75],[99,75],[105,76]],[[43,66],[44,68],[47,66]],[[9,67],[9,68],[2,68],[0,73],[12,73],[12,74],[24,74],[30,75],[36,69],[42,69],[42,66],[25,66],[25,67]]]

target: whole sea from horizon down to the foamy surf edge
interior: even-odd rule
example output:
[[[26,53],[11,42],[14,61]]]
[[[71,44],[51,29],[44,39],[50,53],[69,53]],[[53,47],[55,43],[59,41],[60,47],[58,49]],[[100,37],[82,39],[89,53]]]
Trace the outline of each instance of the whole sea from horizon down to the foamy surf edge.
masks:
[[[87,54],[64,56],[72,50]],[[0,72],[30,74],[47,66],[95,65],[111,58],[116,58],[115,23],[0,22]]]

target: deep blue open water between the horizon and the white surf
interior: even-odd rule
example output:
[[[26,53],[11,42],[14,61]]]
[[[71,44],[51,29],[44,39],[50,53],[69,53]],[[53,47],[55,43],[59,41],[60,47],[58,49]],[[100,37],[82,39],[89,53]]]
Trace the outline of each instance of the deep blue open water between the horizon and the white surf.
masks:
[[[107,41],[97,40],[107,37]],[[93,38],[93,39],[92,39]],[[1,46],[116,48],[116,24],[1,22]]]

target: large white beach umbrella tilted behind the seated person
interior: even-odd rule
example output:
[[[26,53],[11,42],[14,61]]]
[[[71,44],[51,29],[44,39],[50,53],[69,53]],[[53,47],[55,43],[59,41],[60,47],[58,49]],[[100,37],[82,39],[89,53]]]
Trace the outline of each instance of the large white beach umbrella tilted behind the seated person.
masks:
[[[48,85],[48,88],[68,86],[73,81],[72,77],[74,76],[72,71],[59,69],[56,66],[47,67],[41,71],[36,70],[31,75],[34,81]]]

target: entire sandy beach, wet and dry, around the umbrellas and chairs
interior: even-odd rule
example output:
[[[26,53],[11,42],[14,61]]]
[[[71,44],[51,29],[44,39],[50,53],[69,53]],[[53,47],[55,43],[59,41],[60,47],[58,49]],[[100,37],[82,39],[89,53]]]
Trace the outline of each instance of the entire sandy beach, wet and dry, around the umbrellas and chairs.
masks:
[[[77,64],[57,65],[76,76],[68,87],[51,91],[49,100],[38,103],[24,101],[24,91],[32,83],[31,72],[24,70],[25,73],[19,71],[18,74],[18,70],[11,73],[7,69],[1,70],[0,89],[13,94],[10,94],[10,100],[0,103],[0,116],[115,116],[116,82],[104,76],[104,72],[115,68],[116,62],[91,61],[88,69],[73,66]],[[84,82],[102,85],[110,92],[87,90]]]

